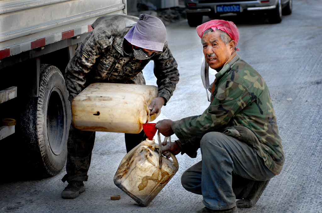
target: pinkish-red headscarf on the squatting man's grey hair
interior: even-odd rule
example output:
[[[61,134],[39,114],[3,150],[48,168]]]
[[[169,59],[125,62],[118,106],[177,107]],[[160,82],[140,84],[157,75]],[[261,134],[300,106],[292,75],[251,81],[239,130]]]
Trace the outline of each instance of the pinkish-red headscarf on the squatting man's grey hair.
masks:
[[[207,21],[206,23],[203,23],[202,25],[199,25],[197,27],[197,33],[200,38],[202,38],[204,31],[208,30],[209,28],[213,29],[215,31],[223,30],[226,32],[232,40],[236,42],[236,46],[239,39],[239,31],[236,27],[236,25],[232,21],[225,21],[225,20],[211,20]],[[239,48],[237,48],[239,50]]]

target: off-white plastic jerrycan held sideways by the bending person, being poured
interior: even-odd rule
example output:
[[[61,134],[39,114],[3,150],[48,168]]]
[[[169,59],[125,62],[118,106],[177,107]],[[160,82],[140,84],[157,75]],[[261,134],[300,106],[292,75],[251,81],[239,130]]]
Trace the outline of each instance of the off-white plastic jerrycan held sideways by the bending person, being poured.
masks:
[[[75,128],[84,131],[139,133],[150,116],[158,88],[152,85],[93,83],[71,103]]]

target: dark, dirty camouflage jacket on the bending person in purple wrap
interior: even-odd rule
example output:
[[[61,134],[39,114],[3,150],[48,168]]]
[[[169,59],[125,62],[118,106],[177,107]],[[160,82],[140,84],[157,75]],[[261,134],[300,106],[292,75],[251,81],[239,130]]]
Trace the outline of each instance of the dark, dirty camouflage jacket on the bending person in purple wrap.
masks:
[[[163,52],[148,60],[137,60],[123,52],[124,36],[137,19],[127,15],[106,15],[92,24],[93,30],[66,67],[65,79],[70,101],[91,83],[145,84],[142,70],[150,60],[155,65],[158,96],[164,97],[166,102],[169,100],[179,81],[179,73],[167,42]]]

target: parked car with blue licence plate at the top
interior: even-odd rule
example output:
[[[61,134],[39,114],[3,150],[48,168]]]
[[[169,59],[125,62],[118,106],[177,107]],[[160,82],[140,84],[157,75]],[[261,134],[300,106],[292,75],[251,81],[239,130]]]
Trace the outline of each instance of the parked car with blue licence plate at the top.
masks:
[[[266,14],[270,23],[282,21],[282,14],[292,13],[292,0],[185,0],[188,24],[191,27],[202,24],[204,15],[218,19],[225,13]]]

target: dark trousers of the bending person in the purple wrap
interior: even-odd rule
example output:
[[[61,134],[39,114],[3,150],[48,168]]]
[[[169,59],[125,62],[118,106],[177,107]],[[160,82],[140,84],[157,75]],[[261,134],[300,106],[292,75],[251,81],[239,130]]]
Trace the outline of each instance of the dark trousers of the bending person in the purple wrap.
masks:
[[[145,138],[143,131],[139,134],[125,134],[127,152]],[[87,181],[94,141],[95,132],[78,130],[71,124],[67,142],[67,174],[62,178],[63,182]]]

